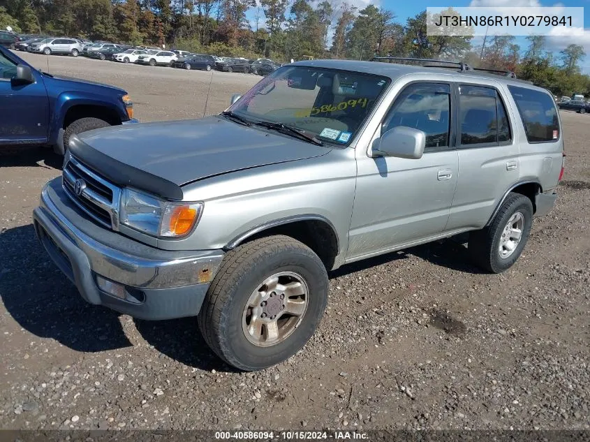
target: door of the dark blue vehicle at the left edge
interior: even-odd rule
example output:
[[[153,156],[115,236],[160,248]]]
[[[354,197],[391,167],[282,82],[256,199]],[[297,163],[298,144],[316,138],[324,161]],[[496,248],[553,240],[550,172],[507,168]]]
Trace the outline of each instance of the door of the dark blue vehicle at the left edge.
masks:
[[[45,142],[49,99],[43,78],[33,71],[33,84],[13,84],[17,61],[8,57],[0,52],[0,144]]]

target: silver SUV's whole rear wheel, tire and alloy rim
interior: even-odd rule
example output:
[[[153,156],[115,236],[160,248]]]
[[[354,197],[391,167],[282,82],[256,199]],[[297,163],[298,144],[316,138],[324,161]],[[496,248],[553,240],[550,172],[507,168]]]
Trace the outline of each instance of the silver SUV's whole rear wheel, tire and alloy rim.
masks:
[[[469,235],[469,253],[483,270],[508,270],[524,249],[533,223],[533,203],[509,193],[489,226]]]

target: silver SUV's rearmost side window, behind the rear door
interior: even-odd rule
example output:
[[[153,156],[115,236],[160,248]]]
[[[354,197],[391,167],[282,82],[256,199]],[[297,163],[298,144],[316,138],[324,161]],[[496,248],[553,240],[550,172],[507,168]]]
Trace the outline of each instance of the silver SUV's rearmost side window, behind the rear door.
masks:
[[[559,139],[559,119],[553,98],[545,92],[526,87],[508,86],[516,102],[529,142],[552,142]]]

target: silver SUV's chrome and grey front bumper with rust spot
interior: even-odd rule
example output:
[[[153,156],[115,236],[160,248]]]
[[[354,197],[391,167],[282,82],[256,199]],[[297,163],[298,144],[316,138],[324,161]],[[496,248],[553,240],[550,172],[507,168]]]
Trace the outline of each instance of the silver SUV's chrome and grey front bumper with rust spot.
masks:
[[[97,226],[61,189],[48,182],[33,212],[38,239],[50,258],[91,304],[142,319],[198,314],[223,251],[164,251]],[[125,286],[121,299],[98,288],[96,277]]]

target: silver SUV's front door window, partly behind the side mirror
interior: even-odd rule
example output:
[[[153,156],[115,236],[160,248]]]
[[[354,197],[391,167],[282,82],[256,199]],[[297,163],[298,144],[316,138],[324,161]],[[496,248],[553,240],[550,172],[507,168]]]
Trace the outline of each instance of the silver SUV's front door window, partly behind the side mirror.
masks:
[[[425,152],[449,147],[450,85],[414,83],[397,96],[381,126],[381,135],[397,126],[426,134]]]

